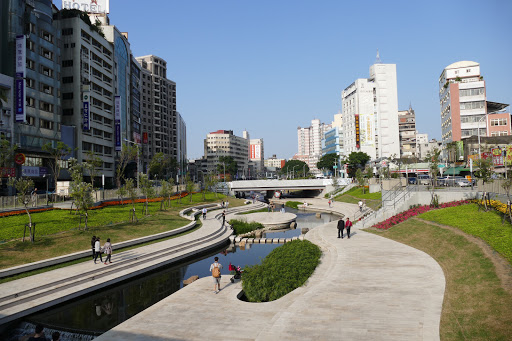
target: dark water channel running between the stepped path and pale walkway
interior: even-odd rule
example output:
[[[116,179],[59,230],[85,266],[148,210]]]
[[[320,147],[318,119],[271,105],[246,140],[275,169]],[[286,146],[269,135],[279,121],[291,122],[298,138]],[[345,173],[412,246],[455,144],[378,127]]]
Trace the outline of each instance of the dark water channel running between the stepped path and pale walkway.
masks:
[[[267,238],[299,236],[304,228],[312,229],[338,219],[336,216],[325,213],[318,218],[315,213],[297,211],[288,207],[286,211],[297,215],[297,228],[269,232],[266,234]],[[242,268],[259,264],[279,246],[281,244],[247,244],[240,248],[238,245],[227,244],[217,250],[196,254],[180,263],[164,266],[0,326],[0,339],[17,341],[20,336],[33,333],[36,324],[42,324],[45,327],[46,337],[50,337],[53,331],[59,331],[62,341],[93,340],[96,336],[181,289],[184,279],[193,275],[198,275],[200,278],[210,276],[209,268],[213,257],[219,257],[220,263],[227,272],[229,263]]]

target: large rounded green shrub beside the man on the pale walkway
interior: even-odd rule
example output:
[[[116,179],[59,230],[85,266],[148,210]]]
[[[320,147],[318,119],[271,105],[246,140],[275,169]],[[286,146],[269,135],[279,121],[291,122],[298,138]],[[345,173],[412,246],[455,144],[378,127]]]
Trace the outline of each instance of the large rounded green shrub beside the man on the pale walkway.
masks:
[[[242,288],[250,302],[277,300],[302,286],[320,262],[322,252],[307,240],[274,249],[261,262],[244,268]]]

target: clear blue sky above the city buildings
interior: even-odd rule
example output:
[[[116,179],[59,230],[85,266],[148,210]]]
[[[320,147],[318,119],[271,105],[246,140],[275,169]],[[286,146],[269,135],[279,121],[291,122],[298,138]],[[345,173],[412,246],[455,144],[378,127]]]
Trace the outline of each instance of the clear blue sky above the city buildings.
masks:
[[[218,129],[247,129],[265,157],[291,158],[297,127],[330,123],[377,48],[397,65],[399,109],[412,103],[417,130],[439,139],[437,82],[453,62],[479,62],[488,100],[512,103],[511,13],[506,0],[110,1],[133,53],[167,61],[189,158]]]

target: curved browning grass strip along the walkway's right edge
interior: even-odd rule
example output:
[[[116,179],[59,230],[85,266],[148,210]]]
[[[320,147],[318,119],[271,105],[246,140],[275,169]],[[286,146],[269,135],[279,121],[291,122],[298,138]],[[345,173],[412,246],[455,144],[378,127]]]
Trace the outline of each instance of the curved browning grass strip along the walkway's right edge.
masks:
[[[428,214],[435,218],[448,210]],[[471,224],[471,217],[457,217],[460,224]],[[479,219],[486,217],[481,213]],[[502,287],[492,261],[479,246],[453,231],[415,219],[387,231],[366,231],[422,250],[441,265],[446,278],[441,340],[510,340],[512,294]]]

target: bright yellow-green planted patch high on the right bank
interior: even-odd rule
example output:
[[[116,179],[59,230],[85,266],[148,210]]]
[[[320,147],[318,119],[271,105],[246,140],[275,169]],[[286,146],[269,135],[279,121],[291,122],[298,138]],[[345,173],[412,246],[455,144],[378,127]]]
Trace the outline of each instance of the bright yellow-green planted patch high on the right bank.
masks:
[[[450,225],[484,240],[512,264],[512,225],[494,210],[478,212],[478,205],[462,205],[420,214],[418,218]]]

